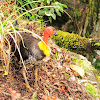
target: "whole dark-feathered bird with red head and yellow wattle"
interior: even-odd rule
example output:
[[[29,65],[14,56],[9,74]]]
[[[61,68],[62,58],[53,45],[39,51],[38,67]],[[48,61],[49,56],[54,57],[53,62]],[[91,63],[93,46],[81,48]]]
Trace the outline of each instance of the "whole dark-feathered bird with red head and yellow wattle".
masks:
[[[17,22],[16,22],[17,23]],[[48,38],[50,35],[55,35],[58,36],[55,28],[53,26],[48,26],[44,30],[44,35],[43,39],[38,39],[32,34],[28,33],[21,33],[22,39],[20,38],[19,41],[19,48],[20,48],[20,53],[22,56],[23,61],[25,62],[25,65],[27,63],[32,64],[33,62],[41,61],[44,57],[50,56],[50,48],[47,45],[48,43]],[[18,60],[20,59],[20,54],[18,50],[13,46],[12,51],[15,52],[15,56],[17,57]],[[28,83],[26,74],[25,74],[25,69],[22,68],[22,74],[25,79],[26,87],[31,90],[31,87]]]

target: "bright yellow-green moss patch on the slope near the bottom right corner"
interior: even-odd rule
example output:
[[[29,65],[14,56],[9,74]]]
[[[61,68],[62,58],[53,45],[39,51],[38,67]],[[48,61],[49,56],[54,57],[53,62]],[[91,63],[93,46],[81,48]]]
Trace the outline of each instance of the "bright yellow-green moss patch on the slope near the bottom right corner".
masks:
[[[98,90],[90,83],[87,82],[86,90],[88,90],[89,94],[92,96],[96,96],[96,93],[98,93]]]

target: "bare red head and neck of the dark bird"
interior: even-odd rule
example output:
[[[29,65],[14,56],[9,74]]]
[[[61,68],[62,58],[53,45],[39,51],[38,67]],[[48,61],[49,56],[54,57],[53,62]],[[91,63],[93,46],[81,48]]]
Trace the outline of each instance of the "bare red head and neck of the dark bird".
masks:
[[[48,41],[48,37],[50,35],[55,35],[55,36],[58,36],[58,34],[56,33],[56,30],[54,27],[52,26],[49,26],[47,27],[45,30],[44,30],[44,37],[43,37],[43,41],[47,44],[47,41]]]

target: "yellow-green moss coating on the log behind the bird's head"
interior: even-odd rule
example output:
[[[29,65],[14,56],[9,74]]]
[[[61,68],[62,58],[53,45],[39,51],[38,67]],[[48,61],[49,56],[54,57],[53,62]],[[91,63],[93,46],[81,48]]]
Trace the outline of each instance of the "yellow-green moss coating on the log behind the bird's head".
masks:
[[[84,50],[86,48],[86,38],[81,37],[80,35],[63,32],[58,30],[57,31],[58,36],[51,36],[53,40],[55,40],[56,44],[60,47],[64,47],[70,50]]]

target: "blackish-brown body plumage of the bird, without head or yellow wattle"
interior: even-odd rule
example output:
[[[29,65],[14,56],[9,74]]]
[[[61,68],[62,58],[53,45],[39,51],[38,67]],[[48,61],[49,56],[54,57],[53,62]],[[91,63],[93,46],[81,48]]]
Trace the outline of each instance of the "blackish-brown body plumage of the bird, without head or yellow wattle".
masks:
[[[23,60],[31,61],[38,61],[42,60],[45,55],[42,50],[40,50],[38,43],[40,42],[39,39],[36,39],[31,34],[23,33],[21,34],[23,38],[19,40],[20,45],[20,52],[22,55]],[[18,60],[20,60],[20,56],[18,50],[15,52],[15,56],[17,56]]]

